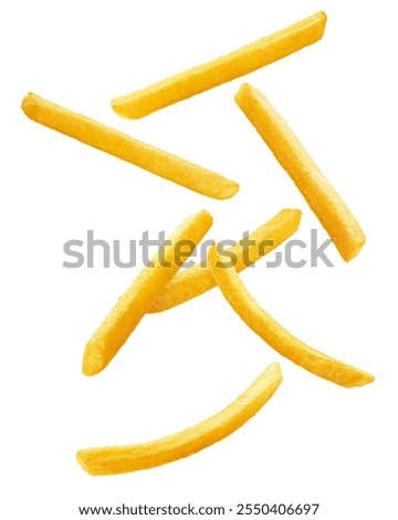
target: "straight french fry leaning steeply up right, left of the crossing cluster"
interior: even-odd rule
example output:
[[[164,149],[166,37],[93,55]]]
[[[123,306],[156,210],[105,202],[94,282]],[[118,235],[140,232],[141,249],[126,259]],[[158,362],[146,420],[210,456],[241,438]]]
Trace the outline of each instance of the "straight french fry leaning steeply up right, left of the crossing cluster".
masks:
[[[195,248],[211,225],[210,214],[199,211],[184,220],[165,246],[159,248],[151,263],[140,271],[88,341],[83,358],[85,375],[94,375],[105,368],[177,273],[180,263],[176,259],[176,245],[181,240],[185,243],[190,241]]]

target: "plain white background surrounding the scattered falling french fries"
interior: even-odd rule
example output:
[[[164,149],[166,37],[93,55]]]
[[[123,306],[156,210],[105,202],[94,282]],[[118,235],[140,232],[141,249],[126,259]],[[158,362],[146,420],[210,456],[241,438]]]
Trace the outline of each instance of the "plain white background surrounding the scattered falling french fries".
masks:
[[[7,6],[7,7],[6,7]],[[14,1],[1,9],[1,510],[81,518],[77,506],[321,503],[315,518],[396,518],[397,80],[395,2]],[[244,81],[289,121],[360,221],[367,243],[334,268],[242,273],[258,301],[308,344],[376,375],[346,389],[282,358],[220,292],[146,316],[103,373],[85,342],[140,269],[64,269],[63,245],[170,232],[208,209],[209,237],[239,239],[283,207],[296,238],[326,233],[233,96],[237,80],[140,121],[109,100],[325,10],[324,39]],[[33,91],[240,183],[197,195],[29,121]],[[281,248],[283,250],[283,248]],[[126,250],[125,250],[126,251]],[[271,257],[270,257],[271,258]],[[279,361],[284,383],[226,440],[115,477],[75,461],[85,447],[169,435],[220,410]],[[231,518],[229,514],[226,518]]]

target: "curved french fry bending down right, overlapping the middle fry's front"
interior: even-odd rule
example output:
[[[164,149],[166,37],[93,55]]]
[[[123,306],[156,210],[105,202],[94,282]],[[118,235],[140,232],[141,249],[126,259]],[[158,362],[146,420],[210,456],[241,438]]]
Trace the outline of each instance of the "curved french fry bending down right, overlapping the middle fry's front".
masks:
[[[364,386],[374,376],[342,361],[328,357],[290,334],[253,299],[233,267],[226,267],[217,246],[209,249],[209,268],[228,303],[244,323],[281,355],[308,372],[337,385]]]

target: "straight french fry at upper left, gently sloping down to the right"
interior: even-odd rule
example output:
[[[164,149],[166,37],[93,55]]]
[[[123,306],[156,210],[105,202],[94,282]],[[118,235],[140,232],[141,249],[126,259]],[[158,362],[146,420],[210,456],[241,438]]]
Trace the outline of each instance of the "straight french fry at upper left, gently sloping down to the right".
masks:
[[[233,180],[134,139],[84,115],[55,105],[36,94],[30,93],[23,98],[22,110],[28,117],[41,125],[69,135],[198,194],[216,199],[228,199],[239,190],[239,185]]]

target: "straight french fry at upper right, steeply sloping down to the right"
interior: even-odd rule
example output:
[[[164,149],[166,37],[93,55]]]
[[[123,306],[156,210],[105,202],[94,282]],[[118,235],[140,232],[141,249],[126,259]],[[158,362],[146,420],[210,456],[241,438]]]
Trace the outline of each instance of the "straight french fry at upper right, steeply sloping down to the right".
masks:
[[[286,122],[252,85],[242,85],[235,101],[305,197],[343,259],[348,262],[356,257],[365,243],[359,223]]]

